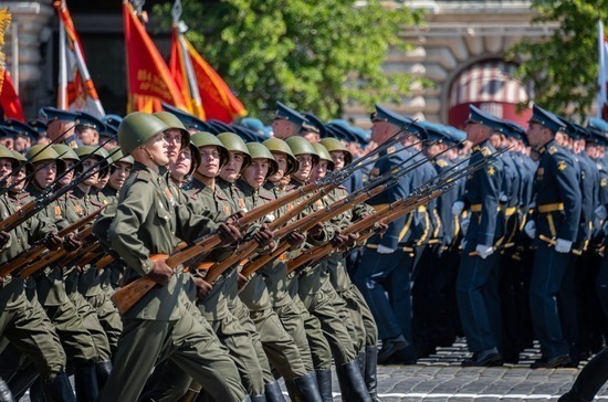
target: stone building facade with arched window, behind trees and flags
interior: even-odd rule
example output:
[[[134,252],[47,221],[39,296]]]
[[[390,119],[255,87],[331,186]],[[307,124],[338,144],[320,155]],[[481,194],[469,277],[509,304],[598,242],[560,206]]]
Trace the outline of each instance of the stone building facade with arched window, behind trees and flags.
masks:
[[[103,4],[92,4],[103,3]],[[420,119],[462,125],[468,105],[475,104],[499,117],[525,121],[517,104],[533,97],[533,88],[513,73],[517,61],[506,61],[507,50],[523,38],[551,35],[555,24],[533,25],[531,1],[395,1],[398,7],[426,11],[423,27],[407,28],[402,38],[415,45],[409,52],[389,54],[386,71],[406,72],[431,81],[432,88],[413,87],[395,110]],[[125,63],[120,1],[70,1],[70,10],[85,47],[88,70],[106,113],[124,114]],[[150,7],[148,4],[147,7]],[[54,104],[56,86],[57,18],[52,0],[0,1],[9,7],[13,23],[4,53],[28,118]],[[161,51],[168,34],[155,36]],[[349,105],[347,117],[369,124],[369,110]]]

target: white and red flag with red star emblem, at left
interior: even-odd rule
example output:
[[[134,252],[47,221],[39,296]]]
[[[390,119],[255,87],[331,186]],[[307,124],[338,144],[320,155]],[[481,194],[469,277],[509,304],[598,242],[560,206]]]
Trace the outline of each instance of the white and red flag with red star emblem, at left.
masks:
[[[60,17],[57,107],[64,110],[84,110],[102,118],[104,108],[88,74],[81,41],[65,1],[53,3]]]

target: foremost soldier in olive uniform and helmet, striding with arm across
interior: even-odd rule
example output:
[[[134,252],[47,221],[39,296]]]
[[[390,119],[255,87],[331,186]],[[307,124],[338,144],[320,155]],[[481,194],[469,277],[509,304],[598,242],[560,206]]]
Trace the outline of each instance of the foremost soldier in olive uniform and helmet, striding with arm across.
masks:
[[[118,128],[120,149],[135,163],[107,237],[126,264],[126,283],[148,276],[157,286],[123,315],[115,369],[99,401],[136,401],[160,358],[176,362],[214,400],[242,401],[245,390],[233,361],[184,305],[181,268],[174,271],[163,258],[150,260],[154,254],[170,254],[179,239],[192,241],[216,231],[223,244],[241,237],[230,222],[218,225],[212,213],[195,214],[176,202],[160,176],[160,168],[169,163],[167,128],[140,112],[126,116]]]

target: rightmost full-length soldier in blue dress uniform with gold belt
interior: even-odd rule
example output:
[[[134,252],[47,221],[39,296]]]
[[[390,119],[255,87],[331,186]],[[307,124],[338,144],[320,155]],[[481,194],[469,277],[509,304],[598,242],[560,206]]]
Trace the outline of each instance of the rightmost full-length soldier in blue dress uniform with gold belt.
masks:
[[[539,154],[534,179],[536,216],[526,223],[526,232],[533,234],[538,247],[530,284],[530,308],[543,357],[532,368],[558,368],[570,362],[555,298],[576,241],[581,195],[573,159],[555,144],[555,135],[562,128],[563,123],[555,115],[534,106],[526,136]]]

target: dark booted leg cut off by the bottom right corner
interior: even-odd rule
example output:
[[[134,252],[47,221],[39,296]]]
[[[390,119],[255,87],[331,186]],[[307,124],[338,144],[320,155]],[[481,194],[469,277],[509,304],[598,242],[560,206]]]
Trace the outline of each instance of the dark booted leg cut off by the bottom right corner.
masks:
[[[608,348],[597,353],[580,370],[572,390],[559,402],[593,401],[601,387],[608,381]]]

